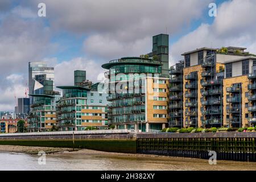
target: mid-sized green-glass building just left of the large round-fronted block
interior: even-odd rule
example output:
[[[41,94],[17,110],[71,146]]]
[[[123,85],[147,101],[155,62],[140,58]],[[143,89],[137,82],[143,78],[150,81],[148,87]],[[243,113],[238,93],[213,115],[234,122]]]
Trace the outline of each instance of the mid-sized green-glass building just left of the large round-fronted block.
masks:
[[[57,86],[63,97],[57,102],[57,121],[61,131],[108,127],[106,93],[98,84],[86,80],[85,71],[75,71],[74,86]]]

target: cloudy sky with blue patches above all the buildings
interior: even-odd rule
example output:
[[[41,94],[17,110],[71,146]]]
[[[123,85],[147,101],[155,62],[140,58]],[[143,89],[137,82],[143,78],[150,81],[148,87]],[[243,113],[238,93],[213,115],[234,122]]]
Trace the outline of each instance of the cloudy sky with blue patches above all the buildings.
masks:
[[[38,16],[40,2],[46,17]],[[216,17],[208,15],[212,2]],[[170,35],[170,64],[199,47],[256,53],[255,9],[255,0],[0,0],[0,110],[24,97],[28,61],[48,61],[55,85],[68,85],[75,69],[100,80],[101,64],[150,52],[161,33]]]

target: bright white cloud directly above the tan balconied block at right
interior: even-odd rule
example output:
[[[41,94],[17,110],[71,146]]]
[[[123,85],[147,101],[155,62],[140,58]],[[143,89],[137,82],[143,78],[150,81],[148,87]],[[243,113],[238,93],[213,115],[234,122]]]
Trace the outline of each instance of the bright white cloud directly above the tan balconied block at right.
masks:
[[[171,46],[171,60],[175,64],[181,53],[200,47],[248,47],[256,53],[256,1],[233,0],[218,7],[218,16],[212,24],[201,24]]]

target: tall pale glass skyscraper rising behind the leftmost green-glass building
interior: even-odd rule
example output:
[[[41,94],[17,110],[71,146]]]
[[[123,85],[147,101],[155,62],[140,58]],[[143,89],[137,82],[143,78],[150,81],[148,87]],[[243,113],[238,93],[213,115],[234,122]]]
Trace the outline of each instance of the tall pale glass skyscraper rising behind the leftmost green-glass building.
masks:
[[[38,76],[41,75],[41,76]],[[54,68],[47,67],[46,61],[35,61],[28,62],[28,88],[29,94],[33,94],[34,90],[40,89],[40,79],[44,77],[43,80],[52,80],[54,86]],[[32,97],[30,97],[30,104],[32,104]]]

